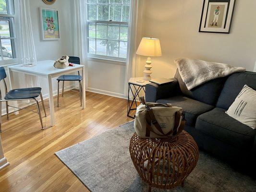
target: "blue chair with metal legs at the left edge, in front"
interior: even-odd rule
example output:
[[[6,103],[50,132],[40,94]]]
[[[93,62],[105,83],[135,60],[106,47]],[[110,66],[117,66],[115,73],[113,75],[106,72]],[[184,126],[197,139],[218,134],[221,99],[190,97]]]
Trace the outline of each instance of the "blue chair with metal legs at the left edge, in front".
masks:
[[[34,113],[37,113],[39,115],[41,127],[42,127],[42,129],[44,129],[39,104],[38,104],[38,101],[36,99],[38,96],[41,97],[43,109],[44,109],[44,112],[45,112],[44,100],[43,100],[43,96],[42,96],[42,93],[41,93],[42,88],[41,87],[31,87],[31,88],[22,88],[22,89],[12,89],[11,91],[8,92],[7,91],[7,85],[6,85],[6,82],[4,80],[5,78],[6,78],[6,72],[5,72],[3,67],[0,67],[0,81],[3,81],[4,88],[5,88],[5,97],[4,97],[4,99],[2,99],[2,94],[1,94],[1,90],[0,90],[0,132],[2,132],[2,130],[1,130],[1,128],[2,128],[2,110],[1,110],[2,102],[6,103],[7,120],[9,120],[9,107],[12,107],[12,108],[18,108],[18,107],[8,105],[8,101],[21,101],[21,100],[34,100],[34,101],[36,101],[37,112],[33,111],[33,110],[26,109],[26,108],[18,108],[18,109],[26,109],[26,110],[32,111]],[[46,117],[46,112],[45,112],[45,117]]]

